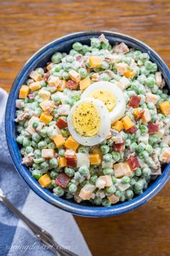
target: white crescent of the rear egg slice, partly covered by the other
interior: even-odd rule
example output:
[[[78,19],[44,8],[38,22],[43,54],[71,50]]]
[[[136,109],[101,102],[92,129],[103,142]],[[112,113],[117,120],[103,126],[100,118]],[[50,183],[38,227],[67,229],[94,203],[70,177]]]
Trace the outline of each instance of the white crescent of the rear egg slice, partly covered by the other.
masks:
[[[121,119],[122,116],[125,114],[125,94],[117,85],[112,84],[112,82],[100,81],[94,82],[92,85],[86,88],[84,93],[81,94],[81,98],[88,98],[90,97],[91,93],[94,93],[96,90],[99,89],[109,90],[110,93],[115,96],[115,107],[112,109],[112,111],[109,111],[110,120],[112,123],[115,123],[115,121]]]

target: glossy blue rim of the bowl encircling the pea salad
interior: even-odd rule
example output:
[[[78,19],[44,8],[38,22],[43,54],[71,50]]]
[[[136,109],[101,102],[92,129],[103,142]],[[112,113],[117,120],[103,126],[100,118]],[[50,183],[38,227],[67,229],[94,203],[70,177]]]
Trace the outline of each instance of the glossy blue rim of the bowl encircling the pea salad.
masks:
[[[27,183],[27,185],[37,194],[39,195],[43,200],[46,202],[49,202],[52,205],[57,206],[58,208],[61,208],[63,210],[68,211],[69,213],[73,213],[77,216],[86,216],[86,217],[109,217],[109,216],[117,216],[122,213],[127,213],[130,210],[134,210],[135,208],[138,208],[139,206],[143,205],[144,203],[148,202],[148,200],[151,200],[152,197],[154,197],[161,189],[164,187],[166,182],[168,182],[170,177],[170,163],[166,165],[164,168],[164,172],[161,174],[161,176],[158,176],[158,178],[153,182],[153,184],[146,189],[143,194],[136,196],[130,201],[121,202],[120,204],[111,205],[109,207],[104,206],[86,206],[86,205],[79,205],[76,202],[70,202],[69,200],[63,199],[61,197],[56,197],[53,195],[52,192],[50,192],[48,189],[43,189],[40,187],[40,184],[37,184],[35,179],[33,179],[32,175],[30,174],[30,171],[26,166],[23,166],[21,162],[19,162],[19,150],[16,152],[16,148],[14,148],[14,143],[16,141],[14,140],[14,136],[12,134],[12,122],[9,120],[12,120],[12,116],[10,115],[10,110],[12,107],[12,104],[14,105],[13,101],[13,94],[14,90],[17,87],[17,83],[19,83],[19,80],[21,79],[22,75],[27,74],[27,67],[32,64],[32,61],[36,61],[37,57],[43,54],[43,52],[48,51],[48,48],[52,46],[54,43],[60,41],[68,41],[71,38],[74,38],[76,36],[84,36],[84,35],[99,35],[103,33],[104,35],[112,35],[115,37],[120,37],[122,41],[125,42],[125,40],[132,41],[136,48],[137,46],[143,46],[145,47],[149,52],[153,54],[156,59],[160,61],[161,68],[164,70],[164,76],[166,76],[166,80],[169,81],[169,87],[170,87],[170,72],[166,64],[164,63],[163,59],[154,51],[150,46],[146,45],[146,43],[143,43],[142,41],[131,37],[130,35],[125,35],[122,33],[116,33],[109,30],[89,30],[89,31],[82,31],[82,32],[76,32],[76,33],[70,33],[68,35],[64,35],[60,38],[56,38],[55,40],[51,41],[50,43],[46,44],[42,48],[40,48],[38,51],[33,54],[30,59],[28,59],[25,64],[22,66],[22,69],[20,69],[19,73],[17,74],[17,77],[15,78],[12,89],[9,93],[9,98],[6,103],[6,113],[5,113],[5,132],[6,132],[6,142],[9,148],[9,153],[12,158],[12,162],[14,164],[14,167],[17,169],[17,172],[20,176],[22,176],[22,179]],[[13,117],[14,118],[14,117]]]

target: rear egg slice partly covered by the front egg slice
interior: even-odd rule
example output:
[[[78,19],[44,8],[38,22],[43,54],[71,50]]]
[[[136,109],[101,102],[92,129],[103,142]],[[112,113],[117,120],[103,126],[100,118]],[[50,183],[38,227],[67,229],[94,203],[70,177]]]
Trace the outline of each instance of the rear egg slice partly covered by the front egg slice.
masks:
[[[104,103],[107,111],[109,111],[111,123],[115,123],[115,121],[119,120],[125,113],[125,95],[122,90],[117,85],[112,84],[112,82],[94,82],[81,94],[82,99],[89,97]]]

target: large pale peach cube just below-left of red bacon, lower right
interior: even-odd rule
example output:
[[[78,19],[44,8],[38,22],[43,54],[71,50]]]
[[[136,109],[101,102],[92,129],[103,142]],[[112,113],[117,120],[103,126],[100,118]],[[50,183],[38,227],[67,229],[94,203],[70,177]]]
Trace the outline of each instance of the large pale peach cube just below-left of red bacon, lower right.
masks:
[[[115,177],[119,178],[122,176],[131,176],[133,172],[130,170],[128,163],[115,163],[113,165],[115,171]]]

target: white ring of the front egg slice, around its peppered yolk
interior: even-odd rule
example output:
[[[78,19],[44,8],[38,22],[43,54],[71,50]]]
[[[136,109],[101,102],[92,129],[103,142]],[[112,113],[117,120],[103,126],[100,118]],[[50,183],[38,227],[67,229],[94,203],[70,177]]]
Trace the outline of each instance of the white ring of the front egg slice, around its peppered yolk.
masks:
[[[93,137],[85,137],[79,135],[78,132],[73,127],[72,124],[72,116],[73,112],[76,110],[76,107],[79,106],[81,103],[86,103],[90,102],[93,103],[94,106],[96,106],[98,114],[100,116],[100,125],[99,125],[99,130],[97,132],[97,135],[94,135]],[[110,129],[110,119],[109,119],[109,112],[107,111],[106,106],[102,101],[96,100],[94,98],[83,98],[80,101],[77,101],[76,104],[71,108],[70,113],[68,114],[68,130],[73,136],[74,140],[79,142],[81,145],[84,146],[93,146],[101,143],[109,134],[109,129]]]

